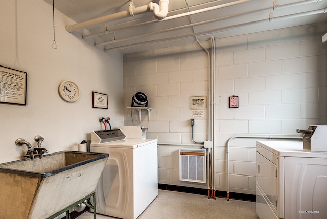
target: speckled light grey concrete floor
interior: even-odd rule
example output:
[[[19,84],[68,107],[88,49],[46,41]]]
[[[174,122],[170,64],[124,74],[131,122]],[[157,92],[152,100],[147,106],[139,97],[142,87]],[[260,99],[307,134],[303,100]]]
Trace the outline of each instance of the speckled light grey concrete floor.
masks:
[[[171,218],[246,218],[258,219],[255,202],[217,198],[183,192],[158,190],[157,198],[138,219],[171,219]],[[85,212],[78,219],[93,219],[93,214]],[[97,219],[113,217],[97,214]]]

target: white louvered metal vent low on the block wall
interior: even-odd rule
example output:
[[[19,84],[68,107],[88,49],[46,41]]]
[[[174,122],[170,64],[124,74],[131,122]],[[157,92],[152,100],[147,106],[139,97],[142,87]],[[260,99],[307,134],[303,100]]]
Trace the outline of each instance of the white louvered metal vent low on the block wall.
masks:
[[[206,183],[206,150],[179,149],[179,180]]]

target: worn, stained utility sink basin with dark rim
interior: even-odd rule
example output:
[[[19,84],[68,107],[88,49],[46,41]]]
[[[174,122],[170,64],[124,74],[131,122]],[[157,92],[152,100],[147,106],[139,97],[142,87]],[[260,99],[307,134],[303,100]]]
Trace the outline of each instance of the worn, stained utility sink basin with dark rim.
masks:
[[[0,218],[48,218],[94,192],[109,155],[61,151],[0,164]]]

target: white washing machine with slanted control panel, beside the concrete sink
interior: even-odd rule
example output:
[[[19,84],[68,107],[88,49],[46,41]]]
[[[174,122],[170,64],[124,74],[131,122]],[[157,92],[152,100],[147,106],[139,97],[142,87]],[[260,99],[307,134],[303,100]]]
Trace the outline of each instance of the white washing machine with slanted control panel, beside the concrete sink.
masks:
[[[120,129],[91,134],[90,151],[110,157],[96,188],[99,214],[135,219],[158,195],[157,140],[137,135],[139,128],[127,128],[127,135]]]

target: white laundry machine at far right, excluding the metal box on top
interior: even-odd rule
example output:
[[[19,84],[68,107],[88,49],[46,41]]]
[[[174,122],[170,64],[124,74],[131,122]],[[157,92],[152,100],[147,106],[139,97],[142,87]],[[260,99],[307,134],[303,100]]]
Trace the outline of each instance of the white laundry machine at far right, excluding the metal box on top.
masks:
[[[326,218],[327,153],[303,151],[301,141],[257,141],[259,218]]]

